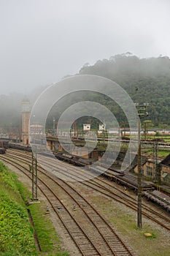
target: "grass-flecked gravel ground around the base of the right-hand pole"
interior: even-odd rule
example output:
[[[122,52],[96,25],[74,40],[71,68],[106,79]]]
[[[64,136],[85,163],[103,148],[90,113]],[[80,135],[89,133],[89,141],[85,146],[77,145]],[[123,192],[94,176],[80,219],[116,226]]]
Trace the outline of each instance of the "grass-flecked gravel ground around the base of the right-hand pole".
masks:
[[[81,188],[82,190],[82,188]],[[120,203],[107,197],[88,195],[98,211],[109,220],[123,240],[134,249],[139,256],[169,256],[170,232],[142,217],[142,230],[136,227],[136,213]],[[146,238],[144,233],[151,233],[152,238]]]

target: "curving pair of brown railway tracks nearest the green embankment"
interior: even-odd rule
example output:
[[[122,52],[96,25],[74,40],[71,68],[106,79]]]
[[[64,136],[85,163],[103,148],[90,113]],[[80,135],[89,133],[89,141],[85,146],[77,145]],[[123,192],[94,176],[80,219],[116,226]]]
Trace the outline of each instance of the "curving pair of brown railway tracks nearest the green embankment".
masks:
[[[17,160],[14,154],[0,158],[31,178],[28,167],[23,166],[26,165],[26,157],[23,159],[23,165],[18,163],[21,162],[21,157]],[[79,192],[65,181],[40,169],[38,187],[47,197],[82,255],[134,255],[117,236],[115,230]],[[74,211],[70,205],[76,205],[77,211]]]

